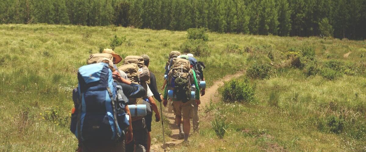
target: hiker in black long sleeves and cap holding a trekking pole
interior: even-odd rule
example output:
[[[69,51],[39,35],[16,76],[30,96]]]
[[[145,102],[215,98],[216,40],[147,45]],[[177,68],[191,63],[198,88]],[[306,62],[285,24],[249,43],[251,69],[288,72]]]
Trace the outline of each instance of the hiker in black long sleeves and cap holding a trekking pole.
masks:
[[[147,68],[149,68],[149,65],[150,65],[150,57],[148,55],[146,55],[146,54],[141,55],[141,57],[144,60],[144,65]],[[154,98],[158,102],[161,102],[162,96],[160,95],[160,93],[158,91],[158,88],[156,86],[156,78],[155,78],[155,75],[151,71],[150,71],[150,83],[148,85],[149,85],[150,90],[154,94]],[[152,104],[155,104],[156,105],[156,103],[152,103]],[[151,134],[150,134],[150,132],[151,132],[151,122],[152,122],[152,114],[150,114],[150,116],[146,116],[146,125],[147,125],[147,131],[148,131],[148,133],[147,133],[147,148],[146,148],[146,151],[147,152],[150,151],[150,146],[151,146]]]

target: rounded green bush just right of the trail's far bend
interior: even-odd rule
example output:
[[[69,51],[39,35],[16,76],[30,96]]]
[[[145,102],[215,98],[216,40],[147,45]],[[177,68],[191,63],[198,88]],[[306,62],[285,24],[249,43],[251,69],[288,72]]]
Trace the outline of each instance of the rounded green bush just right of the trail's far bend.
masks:
[[[247,70],[247,75],[251,78],[265,79],[269,77],[270,72],[272,72],[272,67],[270,65],[254,63]]]

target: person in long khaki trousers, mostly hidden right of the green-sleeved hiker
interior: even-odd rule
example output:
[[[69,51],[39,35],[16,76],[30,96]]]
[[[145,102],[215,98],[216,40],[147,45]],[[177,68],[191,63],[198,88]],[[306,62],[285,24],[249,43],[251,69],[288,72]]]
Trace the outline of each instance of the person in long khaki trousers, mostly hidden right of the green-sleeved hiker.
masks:
[[[195,71],[195,74],[197,75],[198,84],[200,84],[201,81],[205,81],[203,78],[203,72],[202,68],[205,67],[203,62],[197,62],[197,59],[194,58],[193,54],[187,54],[188,60],[191,64],[191,68]],[[203,67],[202,67],[203,65]],[[202,75],[202,76],[201,76]],[[201,90],[201,96],[205,95],[205,88],[199,88]],[[191,86],[191,91],[196,91],[196,87],[194,85]],[[198,116],[198,105],[193,104],[193,110],[194,110],[194,116],[192,118],[192,124],[193,124],[193,132],[199,132],[199,116]]]

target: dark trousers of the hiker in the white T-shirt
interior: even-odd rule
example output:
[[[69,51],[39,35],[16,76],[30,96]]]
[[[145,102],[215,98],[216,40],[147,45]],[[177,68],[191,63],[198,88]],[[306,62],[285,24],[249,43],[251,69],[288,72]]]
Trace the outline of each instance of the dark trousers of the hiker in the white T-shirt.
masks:
[[[133,152],[136,145],[135,152],[146,152],[147,146],[147,128],[145,118],[132,122],[133,140],[126,145],[126,152]]]

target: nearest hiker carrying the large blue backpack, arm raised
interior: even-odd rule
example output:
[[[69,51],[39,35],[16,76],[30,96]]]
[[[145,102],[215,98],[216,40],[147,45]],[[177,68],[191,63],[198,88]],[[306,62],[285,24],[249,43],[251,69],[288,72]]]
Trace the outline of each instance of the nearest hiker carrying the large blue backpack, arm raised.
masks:
[[[133,137],[127,98],[141,97],[146,90],[120,77],[113,66],[112,55],[103,56],[90,55],[89,65],[78,70],[79,85],[72,92],[74,108],[70,130],[79,140],[78,151],[124,152],[125,141],[130,143]],[[111,78],[117,82],[110,81]],[[104,86],[108,86],[106,90],[102,90]]]

